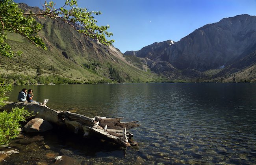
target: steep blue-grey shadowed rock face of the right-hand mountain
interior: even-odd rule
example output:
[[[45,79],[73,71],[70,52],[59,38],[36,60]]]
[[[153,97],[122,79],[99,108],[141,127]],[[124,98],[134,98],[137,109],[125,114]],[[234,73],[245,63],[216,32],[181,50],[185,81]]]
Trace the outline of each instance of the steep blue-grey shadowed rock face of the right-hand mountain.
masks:
[[[168,62],[178,69],[218,69],[256,50],[256,17],[239,15],[195,30],[167,48]]]

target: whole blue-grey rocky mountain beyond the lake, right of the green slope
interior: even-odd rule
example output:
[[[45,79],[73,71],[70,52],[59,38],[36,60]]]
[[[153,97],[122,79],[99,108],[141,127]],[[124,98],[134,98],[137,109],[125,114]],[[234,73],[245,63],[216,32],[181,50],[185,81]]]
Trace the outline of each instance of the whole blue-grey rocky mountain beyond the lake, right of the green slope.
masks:
[[[170,41],[153,43],[134,54],[144,58],[142,61],[152,60],[149,68],[169,78],[230,82],[231,74],[236,72],[249,68],[256,72],[252,67],[255,63],[248,63],[255,56],[256,16],[224,18],[195,30],[177,43],[168,44]],[[236,82],[244,80],[254,82],[255,76],[237,78]]]

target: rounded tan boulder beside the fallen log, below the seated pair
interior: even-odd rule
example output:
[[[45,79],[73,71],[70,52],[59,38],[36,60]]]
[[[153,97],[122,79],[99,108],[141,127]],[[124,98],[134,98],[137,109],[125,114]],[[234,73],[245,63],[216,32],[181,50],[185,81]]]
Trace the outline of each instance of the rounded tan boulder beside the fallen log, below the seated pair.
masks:
[[[25,132],[45,132],[52,129],[52,125],[44,119],[35,118],[24,126]]]

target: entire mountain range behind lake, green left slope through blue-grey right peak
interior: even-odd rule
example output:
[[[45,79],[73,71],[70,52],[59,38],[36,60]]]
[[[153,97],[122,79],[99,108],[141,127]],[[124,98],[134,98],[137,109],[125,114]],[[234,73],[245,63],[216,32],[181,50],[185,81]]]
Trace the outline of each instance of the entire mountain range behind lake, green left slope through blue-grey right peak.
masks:
[[[34,13],[38,7],[19,4]],[[256,17],[238,15],[207,24],[178,42],[153,43],[122,54],[52,19],[37,19],[42,50],[15,33],[7,42],[22,56],[0,56],[0,80],[15,84],[111,82],[256,82]],[[41,71],[38,71],[41,67]],[[40,79],[36,78],[43,73]]]

